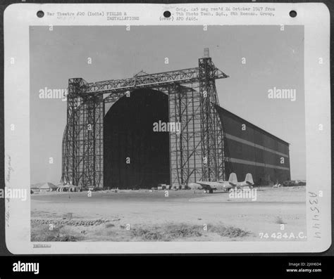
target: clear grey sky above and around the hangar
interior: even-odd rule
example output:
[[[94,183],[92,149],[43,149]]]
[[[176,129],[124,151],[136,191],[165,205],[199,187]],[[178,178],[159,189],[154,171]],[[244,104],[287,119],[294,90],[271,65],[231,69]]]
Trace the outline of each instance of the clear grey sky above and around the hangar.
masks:
[[[209,48],[220,105],[290,143],[292,179],[306,179],[304,27],[285,26],[49,26],[30,27],[31,183],[59,183],[66,102],[39,98],[41,89],[197,67]],[[91,58],[92,63],[87,63]],[[168,64],[165,63],[168,58]],[[243,59],[245,58],[245,59]],[[246,61],[246,63],[242,63]],[[268,90],[296,89],[296,100]],[[53,158],[52,164],[49,158]]]

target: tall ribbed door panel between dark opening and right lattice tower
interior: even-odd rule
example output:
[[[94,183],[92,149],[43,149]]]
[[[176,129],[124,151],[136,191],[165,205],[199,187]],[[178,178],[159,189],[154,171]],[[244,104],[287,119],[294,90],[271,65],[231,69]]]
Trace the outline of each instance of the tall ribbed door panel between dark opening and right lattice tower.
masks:
[[[168,91],[169,122],[180,122],[180,133],[170,133],[171,185],[187,186],[202,178],[199,93],[175,85]]]

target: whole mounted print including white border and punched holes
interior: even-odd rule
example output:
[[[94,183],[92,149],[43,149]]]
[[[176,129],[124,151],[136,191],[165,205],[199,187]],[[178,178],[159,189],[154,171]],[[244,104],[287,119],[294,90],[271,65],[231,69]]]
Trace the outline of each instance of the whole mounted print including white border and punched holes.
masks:
[[[15,4],[4,22],[12,254],[330,247],[325,5]]]

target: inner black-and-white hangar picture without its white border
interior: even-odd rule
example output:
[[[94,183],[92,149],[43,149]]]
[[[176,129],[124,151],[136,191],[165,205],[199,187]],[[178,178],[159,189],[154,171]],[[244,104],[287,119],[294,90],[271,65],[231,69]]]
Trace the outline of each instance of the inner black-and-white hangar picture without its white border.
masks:
[[[30,27],[31,240],[306,239],[304,27],[128,29]]]

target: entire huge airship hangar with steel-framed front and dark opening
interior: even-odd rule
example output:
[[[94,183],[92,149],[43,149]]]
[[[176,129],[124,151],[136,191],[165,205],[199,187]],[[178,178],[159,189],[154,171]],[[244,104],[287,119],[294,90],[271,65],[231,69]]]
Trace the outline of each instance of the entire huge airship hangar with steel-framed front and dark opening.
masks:
[[[61,181],[151,188],[225,181],[231,172],[239,181],[251,173],[256,185],[289,180],[289,144],[219,105],[216,79],[227,77],[204,49],[194,68],[69,79]]]

